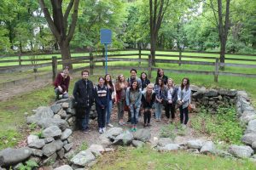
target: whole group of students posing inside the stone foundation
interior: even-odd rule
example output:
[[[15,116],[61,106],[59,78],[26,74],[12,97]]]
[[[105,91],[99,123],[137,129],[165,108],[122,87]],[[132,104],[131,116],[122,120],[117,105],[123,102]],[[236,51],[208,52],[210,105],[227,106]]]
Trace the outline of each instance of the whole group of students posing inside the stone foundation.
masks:
[[[67,69],[67,71],[65,71]],[[163,107],[166,110],[166,117],[171,122],[175,118],[176,105],[180,111],[180,122],[185,127],[189,121],[189,103],[191,90],[189,78],[183,78],[181,85],[177,88],[172,78],[166,77],[162,69],[158,69],[155,83],[150,83],[146,72],[137,77],[137,70],[131,69],[131,77],[125,79],[120,74],[115,83],[112,77],[107,74],[98,78],[98,84],[94,87],[89,80],[89,71],[81,72],[82,78],[75,82],[73,97],[77,103],[77,116],[79,124],[84,133],[88,133],[90,108],[96,103],[97,121],[99,133],[106,131],[106,126],[113,127],[110,123],[110,116],[113,104],[118,108],[119,125],[131,123],[131,131],[137,131],[138,116],[143,114],[144,127],[150,127],[150,119],[155,110],[155,119],[160,122]],[[62,98],[68,98],[69,76],[68,68],[65,67],[55,80],[56,99],[62,94]],[[67,75],[67,76],[66,76]],[[65,81],[66,80],[66,81]],[[68,80],[68,81],[67,81]],[[68,82],[61,86],[61,82]],[[128,121],[124,121],[124,113],[128,111]]]

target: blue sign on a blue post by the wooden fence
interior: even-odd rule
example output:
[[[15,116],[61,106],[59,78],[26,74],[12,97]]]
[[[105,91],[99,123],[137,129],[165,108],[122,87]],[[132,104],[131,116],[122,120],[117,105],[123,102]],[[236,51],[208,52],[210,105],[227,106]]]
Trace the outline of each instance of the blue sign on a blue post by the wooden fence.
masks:
[[[105,71],[108,74],[108,44],[112,42],[112,31],[109,29],[101,29],[101,43],[105,46]]]

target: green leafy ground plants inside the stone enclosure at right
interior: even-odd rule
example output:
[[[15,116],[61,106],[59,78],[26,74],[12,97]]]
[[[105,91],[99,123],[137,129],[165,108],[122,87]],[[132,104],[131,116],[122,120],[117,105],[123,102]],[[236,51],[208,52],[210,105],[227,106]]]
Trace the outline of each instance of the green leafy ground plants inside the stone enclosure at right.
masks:
[[[235,107],[219,107],[215,115],[207,113],[205,109],[191,120],[192,127],[200,133],[207,133],[215,140],[222,140],[231,144],[241,144],[243,127],[236,120]]]

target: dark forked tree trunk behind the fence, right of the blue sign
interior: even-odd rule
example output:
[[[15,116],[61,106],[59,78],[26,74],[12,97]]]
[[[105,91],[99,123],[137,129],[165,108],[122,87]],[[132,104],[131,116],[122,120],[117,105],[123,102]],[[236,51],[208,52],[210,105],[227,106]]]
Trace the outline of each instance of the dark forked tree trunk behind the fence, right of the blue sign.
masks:
[[[154,2],[153,2],[154,1]],[[156,49],[156,41],[158,37],[158,32],[160,30],[160,26],[164,15],[166,13],[166,8],[169,5],[169,0],[149,0],[149,20],[150,20],[150,54],[152,55],[152,59],[155,59],[155,49]],[[152,63],[155,66],[155,62],[153,60]]]

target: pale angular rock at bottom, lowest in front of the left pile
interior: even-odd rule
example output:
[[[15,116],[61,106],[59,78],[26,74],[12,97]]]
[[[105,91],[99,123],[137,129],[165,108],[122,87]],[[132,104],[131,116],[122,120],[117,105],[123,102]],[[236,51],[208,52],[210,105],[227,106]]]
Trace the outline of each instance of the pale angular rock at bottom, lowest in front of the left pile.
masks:
[[[76,156],[73,156],[71,162],[75,165],[85,167],[86,164],[89,164],[91,161],[95,160],[96,157],[89,150],[83,150],[80,151]]]

